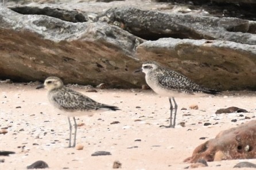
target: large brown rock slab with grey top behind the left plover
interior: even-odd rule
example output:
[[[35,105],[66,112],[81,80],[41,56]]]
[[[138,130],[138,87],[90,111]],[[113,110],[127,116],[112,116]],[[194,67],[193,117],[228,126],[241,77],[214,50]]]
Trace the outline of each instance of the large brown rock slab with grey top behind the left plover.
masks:
[[[65,83],[128,88],[143,40],[106,23],[72,23],[0,8],[0,77],[21,81],[55,75]]]

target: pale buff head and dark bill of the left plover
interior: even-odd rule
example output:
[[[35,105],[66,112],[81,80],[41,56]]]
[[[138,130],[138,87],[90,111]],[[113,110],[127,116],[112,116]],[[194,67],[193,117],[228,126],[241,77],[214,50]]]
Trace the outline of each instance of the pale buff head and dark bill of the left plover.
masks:
[[[45,79],[44,84],[37,86],[37,89],[40,88],[45,88],[49,91],[54,90],[54,89],[59,89],[62,88],[63,82],[60,80],[58,77],[48,77]]]

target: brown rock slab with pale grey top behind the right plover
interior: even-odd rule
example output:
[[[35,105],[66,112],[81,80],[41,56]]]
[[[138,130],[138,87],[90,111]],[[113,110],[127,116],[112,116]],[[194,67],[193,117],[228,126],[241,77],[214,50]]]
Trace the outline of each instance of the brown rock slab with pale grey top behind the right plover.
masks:
[[[208,88],[256,89],[255,45],[161,38],[139,45],[137,57],[158,61]]]

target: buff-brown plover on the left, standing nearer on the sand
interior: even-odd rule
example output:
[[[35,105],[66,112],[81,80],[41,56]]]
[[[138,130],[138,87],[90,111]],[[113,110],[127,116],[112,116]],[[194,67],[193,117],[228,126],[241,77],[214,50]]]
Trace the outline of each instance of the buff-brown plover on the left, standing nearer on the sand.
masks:
[[[55,108],[61,110],[61,114],[68,116],[69,122],[69,144],[71,147],[71,135],[72,125],[70,117],[73,117],[75,123],[75,137],[73,141],[73,147],[76,145],[76,131],[77,124],[75,116],[83,116],[94,112],[102,112],[106,110],[120,110],[117,106],[110,106],[101,104],[85,96],[82,93],[68,89],[63,85],[63,82],[58,77],[48,77],[44,81],[44,84],[37,86],[36,89],[46,88],[48,90],[48,100],[55,106]]]

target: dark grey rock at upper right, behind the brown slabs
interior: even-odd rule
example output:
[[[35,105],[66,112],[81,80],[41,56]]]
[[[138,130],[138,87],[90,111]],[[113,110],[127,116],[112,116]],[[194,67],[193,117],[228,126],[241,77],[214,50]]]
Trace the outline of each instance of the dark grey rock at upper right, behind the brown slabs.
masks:
[[[204,38],[256,45],[256,35],[247,33],[249,21],[238,18],[165,14],[133,7],[111,9],[104,15],[110,22],[144,39]]]

